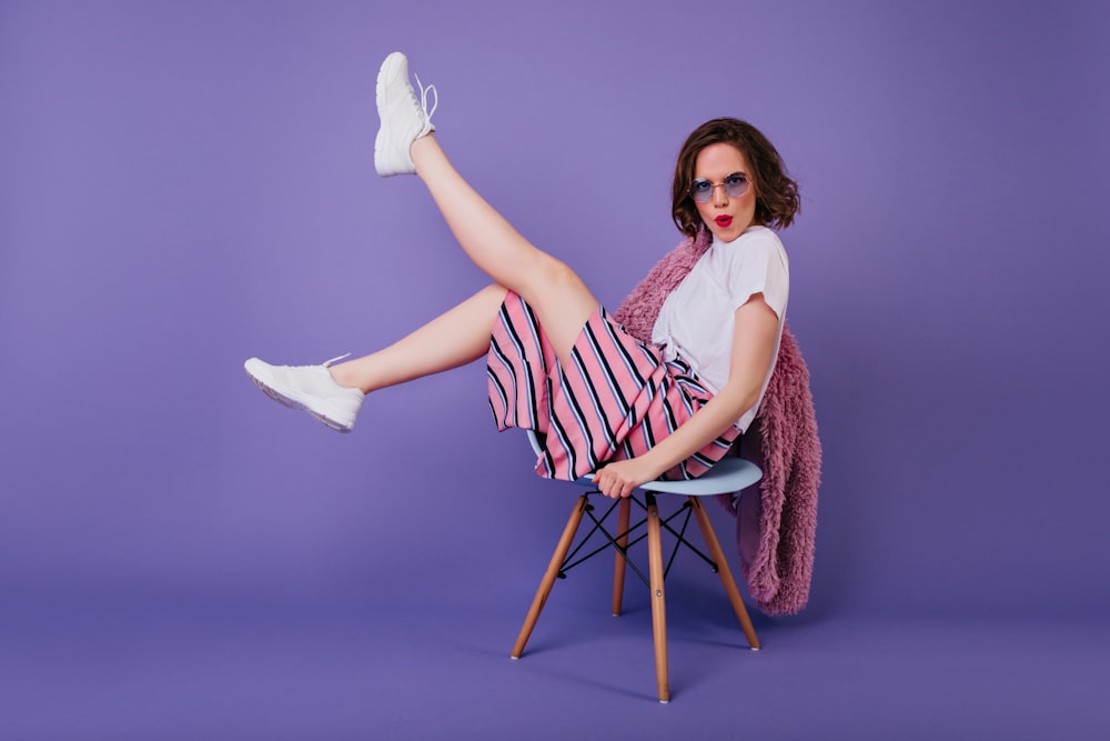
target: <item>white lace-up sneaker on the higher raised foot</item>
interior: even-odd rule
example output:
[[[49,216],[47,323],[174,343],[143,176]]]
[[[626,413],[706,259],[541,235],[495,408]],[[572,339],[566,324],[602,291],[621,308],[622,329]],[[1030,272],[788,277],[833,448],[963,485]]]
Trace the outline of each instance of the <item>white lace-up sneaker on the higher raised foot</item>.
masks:
[[[394,51],[382,62],[377,72],[377,117],[382,128],[377,130],[374,140],[374,168],[377,174],[389,177],[394,174],[413,174],[410,149],[421,137],[435,131],[432,126],[432,113],[440,104],[440,93],[435,86],[420,86],[420,98],[408,82],[408,59],[400,51]],[[427,93],[435,96],[432,110],[427,110]]]

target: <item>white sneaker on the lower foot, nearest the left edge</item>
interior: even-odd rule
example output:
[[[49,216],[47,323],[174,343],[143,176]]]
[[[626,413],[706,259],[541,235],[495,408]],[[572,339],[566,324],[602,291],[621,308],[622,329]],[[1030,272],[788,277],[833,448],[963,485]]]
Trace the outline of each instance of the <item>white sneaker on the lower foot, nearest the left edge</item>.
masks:
[[[251,358],[243,367],[271,399],[303,409],[333,430],[350,432],[366,394],[335,382],[327,367],[336,360],[340,358],[323,366],[271,366]]]

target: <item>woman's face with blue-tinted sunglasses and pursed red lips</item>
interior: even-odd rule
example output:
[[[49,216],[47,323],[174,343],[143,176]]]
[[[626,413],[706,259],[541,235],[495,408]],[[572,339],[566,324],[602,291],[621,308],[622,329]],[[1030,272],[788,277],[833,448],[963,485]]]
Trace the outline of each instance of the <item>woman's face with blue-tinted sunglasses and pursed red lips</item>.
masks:
[[[729,176],[743,176],[748,187],[740,196],[729,196],[724,187]],[[731,144],[709,144],[694,161],[694,179],[705,180],[713,188],[707,201],[694,201],[702,221],[723,241],[730,242],[755,223],[756,187],[744,152]]]

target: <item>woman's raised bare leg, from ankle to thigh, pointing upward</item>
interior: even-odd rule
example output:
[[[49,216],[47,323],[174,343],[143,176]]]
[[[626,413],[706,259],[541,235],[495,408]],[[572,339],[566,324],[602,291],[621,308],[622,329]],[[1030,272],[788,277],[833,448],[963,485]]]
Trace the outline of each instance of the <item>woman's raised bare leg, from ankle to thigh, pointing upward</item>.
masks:
[[[466,254],[498,284],[535,310],[559,360],[598,301],[565,263],[536,248],[475,191],[452,166],[431,134],[411,149],[416,174],[427,186],[443,218]]]

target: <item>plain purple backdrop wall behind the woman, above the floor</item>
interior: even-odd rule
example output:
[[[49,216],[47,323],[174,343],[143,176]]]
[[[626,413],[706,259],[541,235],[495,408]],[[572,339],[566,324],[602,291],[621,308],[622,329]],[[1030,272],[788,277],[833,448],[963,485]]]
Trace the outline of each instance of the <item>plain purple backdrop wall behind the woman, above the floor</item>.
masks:
[[[568,502],[493,431],[483,368],[346,437],[241,371],[483,284],[415,179],[374,177],[396,48],[458,168],[610,306],[677,242],[689,129],[784,152],[811,614],[1110,615],[1104,3],[376,4],[0,3],[0,589],[527,592]]]

